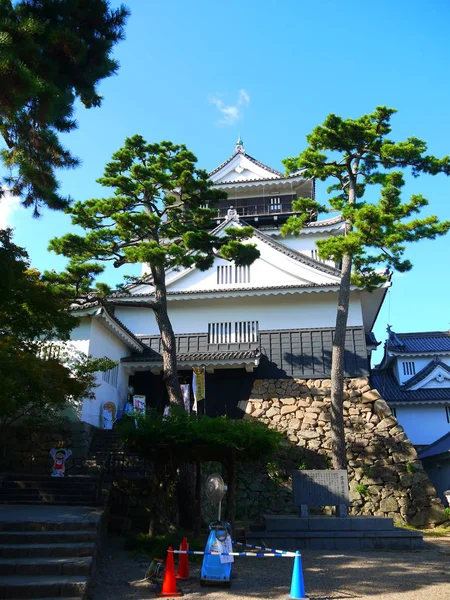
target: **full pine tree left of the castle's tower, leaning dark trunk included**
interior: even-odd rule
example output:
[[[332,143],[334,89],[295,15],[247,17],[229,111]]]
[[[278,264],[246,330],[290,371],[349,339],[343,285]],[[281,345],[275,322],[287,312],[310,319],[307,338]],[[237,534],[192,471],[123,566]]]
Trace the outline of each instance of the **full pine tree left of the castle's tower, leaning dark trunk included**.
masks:
[[[205,270],[219,255],[247,265],[259,256],[254,245],[242,243],[252,236],[251,227],[230,227],[222,237],[211,233],[215,211],[203,207],[226,195],[211,188],[196,161],[184,145],[149,144],[140,135],[127,138],[98,179],[114,194],[76,202],[71,209],[73,224],[83,227],[86,235],[67,234],[50,242],[50,249],[69,257],[72,266],[91,260],[110,261],[115,267],[149,266],[151,276],[144,281],[154,289],[148,307],[161,333],[163,377],[169,401],[180,405],[175,336],[167,312],[167,269],[196,265]]]

